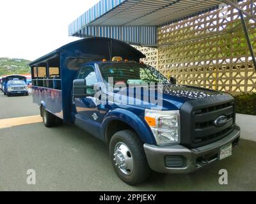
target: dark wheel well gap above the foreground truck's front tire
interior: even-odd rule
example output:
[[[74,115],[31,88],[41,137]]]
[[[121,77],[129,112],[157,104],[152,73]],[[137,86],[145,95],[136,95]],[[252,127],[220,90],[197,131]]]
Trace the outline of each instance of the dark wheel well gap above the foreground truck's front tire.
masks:
[[[105,140],[106,143],[109,143],[111,140],[111,137],[117,133],[118,131],[122,131],[124,129],[132,129],[134,131],[134,129],[129,126],[129,124],[127,124],[126,122],[123,122],[121,120],[113,120],[111,121],[105,131]]]

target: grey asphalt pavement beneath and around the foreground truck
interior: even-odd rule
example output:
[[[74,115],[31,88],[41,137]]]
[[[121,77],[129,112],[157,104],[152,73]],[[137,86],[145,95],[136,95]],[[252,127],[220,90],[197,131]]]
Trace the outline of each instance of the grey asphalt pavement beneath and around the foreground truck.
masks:
[[[31,96],[7,98],[0,93],[1,119],[38,115]],[[76,126],[45,128],[42,122],[0,129],[0,191],[255,191],[256,143],[241,140],[228,157],[190,174],[152,173],[139,186],[116,176],[108,146]],[[28,185],[27,170],[36,172]],[[228,171],[220,185],[219,170]]]

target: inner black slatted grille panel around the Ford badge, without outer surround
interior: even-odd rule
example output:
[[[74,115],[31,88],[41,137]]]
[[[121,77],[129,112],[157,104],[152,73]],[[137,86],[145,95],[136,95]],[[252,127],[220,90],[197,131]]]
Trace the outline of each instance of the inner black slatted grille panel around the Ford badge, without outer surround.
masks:
[[[214,120],[221,115],[227,117],[227,123],[224,126],[216,127]],[[216,140],[220,140],[232,131],[235,124],[234,103],[223,103],[216,106],[209,106],[193,111],[192,121],[194,124],[194,134],[192,142],[196,145],[204,145]]]

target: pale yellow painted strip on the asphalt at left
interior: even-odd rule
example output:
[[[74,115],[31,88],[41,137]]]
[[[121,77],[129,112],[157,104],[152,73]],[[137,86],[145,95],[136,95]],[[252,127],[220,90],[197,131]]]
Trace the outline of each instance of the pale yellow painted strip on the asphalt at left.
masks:
[[[11,128],[13,126],[22,126],[26,124],[33,124],[36,122],[42,122],[42,117],[40,115],[32,115],[26,117],[14,117],[12,119],[0,119],[0,129],[1,128]]]

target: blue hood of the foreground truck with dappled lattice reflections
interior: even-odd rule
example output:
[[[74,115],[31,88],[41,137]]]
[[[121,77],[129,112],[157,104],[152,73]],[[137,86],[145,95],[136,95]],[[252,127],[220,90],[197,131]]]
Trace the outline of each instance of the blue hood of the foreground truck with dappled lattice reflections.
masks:
[[[150,98],[150,94],[155,94],[156,98],[153,99],[153,102],[159,102],[158,104],[161,106],[161,110],[178,110],[184,103],[186,103],[186,101],[205,99],[225,94],[225,92],[213,91],[200,87],[191,87],[188,85],[163,85],[162,87],[150,89],[150,91],[147,92],[141,91],[141,93],[138,94],[139,89],[141,89],[141,87],[123,89],[123,91],[118,92],[118,97],[115,96],[115,99],[118,98],[119,103],[121,101],[122,103],[125,103],[125,101],[129,100],[129,105],[138,106],[140,108],[155,109],[156,103],[152,103],[152,101],[147,100]],[[120,100],[121,97],[119,94],[127,96],[127,98]],[[145,99],[146,101],[149,101],[149,103],[145,103]]]

